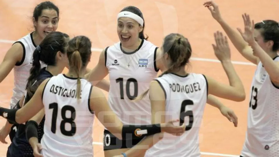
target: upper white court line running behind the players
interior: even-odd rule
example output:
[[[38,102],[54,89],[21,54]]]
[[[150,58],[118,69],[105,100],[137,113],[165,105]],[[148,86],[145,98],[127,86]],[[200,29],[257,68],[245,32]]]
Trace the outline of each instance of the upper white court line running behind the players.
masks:
[[[16,41],[0,39],[0,43],[14,43],[14,42],[16,42]],[[103,49],[99,49],[99,48],[91,48],[91,51],[94,51],[94,52],[102,52],[102,50]],[[220,62],[219,60],[207,59],[207,58],[195,58],[195,57],[191,57],[190,60],[205,61],[205,62],[217,62],[217,63]],[[255,64],[250,63],[250,62],[232,61],[232,64],[256,66]]]

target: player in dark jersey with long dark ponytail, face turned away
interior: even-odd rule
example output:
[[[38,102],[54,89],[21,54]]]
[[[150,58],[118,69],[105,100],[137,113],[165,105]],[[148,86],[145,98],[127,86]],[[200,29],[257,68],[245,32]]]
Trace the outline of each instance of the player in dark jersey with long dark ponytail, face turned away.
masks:
[[[68,66],[66,48],[68,35],[61,32],[51,32],[37,46],[33,53],[33,66],[27,83],[27,92],[24,99],[26,104],[35,93],[36,89],[45,79],[60,74]],[[41,69],[41,63],[47,65]],[[22,106],[22,104],[21,104]],[[19,107],[20,108],[20,107]],[[38,140],[41,141],[44,127],[44,110],[39,112]],[[7,157],[33,157],[33,149],[26,139],[25,124],[18,125],[18,131],[8,147]]]

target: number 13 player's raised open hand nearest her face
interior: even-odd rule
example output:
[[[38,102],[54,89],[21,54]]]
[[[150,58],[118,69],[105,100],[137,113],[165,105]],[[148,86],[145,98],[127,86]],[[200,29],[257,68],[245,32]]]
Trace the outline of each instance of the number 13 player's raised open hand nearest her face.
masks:
[[[250,20],[249,14],[242,14],[242,18],[244,21],[244,32],[241,31],[240,28],[237,28],[237,30],[240,32],[242,38],[247,42],[247,43],[253,43],[255,41],[254,38],[254,20]]]

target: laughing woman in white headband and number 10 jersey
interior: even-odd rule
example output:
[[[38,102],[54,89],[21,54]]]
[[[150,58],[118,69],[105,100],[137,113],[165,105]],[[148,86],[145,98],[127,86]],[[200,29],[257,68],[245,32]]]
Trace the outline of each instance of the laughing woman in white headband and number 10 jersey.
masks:
[[[102,80],[110,74],[108,102],[124,124],[151,124],[149,99],[146,97],[137,102],[131,100],[149,88],[149,83],[156,78],[159,70],[166,70],[160,60],[160,49],[147,41],[148,37],[144,37],[144,26],[140,9],[134,6],[123,8],[117,16],[117,34],[120,41],[102,51],[97,66],[89,76],[91,82]],[[222,105],[211,96],[210,99],[212,105]],[[105,129],[105,157],[121,154],[141,140],[142,138],[120,140]]]

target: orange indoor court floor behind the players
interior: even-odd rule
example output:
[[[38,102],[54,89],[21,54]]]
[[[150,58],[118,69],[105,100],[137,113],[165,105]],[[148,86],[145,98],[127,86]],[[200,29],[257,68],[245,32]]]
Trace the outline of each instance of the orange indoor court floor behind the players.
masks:
[[[7,50],[20,37],[32,31],[32,13],[41,0],[0,0],[0,61]],[[165,35],[179,32],[187,37],[192,46],[190,72],[202,73],[228,84],[228,78],[214,55],[211,44],[213,33],[224,32],[212,18],[203,3],[205,0],[52,0],[60,9],[58,31],[71,37],[85,35],[92,41],[93,68],[105,47],[118,42],[116,16],[125,6],[135,5],[141,9],[145,19],[145,34],[149,41],[161,46]],[[255,22],[278,19],[279,1],[275,0],[215,0],[223,18],[233,27],[244,29],[241,14],[248,13]],[[229,41],[230,42],[230,41]],[[250,85],[256,66],[249,63],[230,42],[234,67],[245,86],[244,102],[221,101],[233,109],[238,116],[238,127],[234,127],[218,109],[206,106],[200,128],[200,150],[203,157],[237,157],[245,138]],[[8,107],[12,96],[13,72],[0,83],[0,106]],[[108,79],[108,76],[106,77]],[[105,92],[107,95],[107,92]],[[0,118],[0,127],[5,119]],[[94,156],[103,157],[103,126],[98,120],[94,124]],[[8,144],[0,144],[0,157],[6,155]]]

